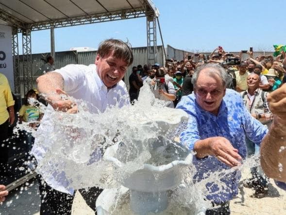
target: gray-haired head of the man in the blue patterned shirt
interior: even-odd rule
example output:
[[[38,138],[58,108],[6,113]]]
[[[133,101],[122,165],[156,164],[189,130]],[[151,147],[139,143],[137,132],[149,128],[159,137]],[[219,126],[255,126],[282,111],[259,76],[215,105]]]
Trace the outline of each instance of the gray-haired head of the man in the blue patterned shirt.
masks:
[[[225,95],[228,75],[222,66],[205,64],[193,75],[194,92],[200,107],[217,115],[222,98]]]

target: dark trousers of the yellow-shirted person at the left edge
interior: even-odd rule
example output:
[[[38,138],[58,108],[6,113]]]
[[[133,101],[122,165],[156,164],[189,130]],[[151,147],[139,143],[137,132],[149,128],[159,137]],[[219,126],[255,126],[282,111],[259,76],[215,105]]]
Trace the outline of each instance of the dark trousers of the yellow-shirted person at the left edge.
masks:
[[[8,162],[8,126],[9,121],[7,120],[0,125],[0,174],[3,175],[6,173],[6,167]]]

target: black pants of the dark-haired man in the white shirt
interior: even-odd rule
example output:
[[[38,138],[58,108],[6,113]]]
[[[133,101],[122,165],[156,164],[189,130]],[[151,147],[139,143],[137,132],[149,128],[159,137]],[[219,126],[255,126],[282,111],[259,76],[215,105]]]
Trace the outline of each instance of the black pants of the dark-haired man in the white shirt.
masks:
[[[41,194],[40,215],[70,215],[74,195],[62,193],[50,187],[46,182],[39,179],[39,190]],[[102,189],[91,187],[88,191],[79,190],[86,204],[95,211],[96,199],[101,194]]]

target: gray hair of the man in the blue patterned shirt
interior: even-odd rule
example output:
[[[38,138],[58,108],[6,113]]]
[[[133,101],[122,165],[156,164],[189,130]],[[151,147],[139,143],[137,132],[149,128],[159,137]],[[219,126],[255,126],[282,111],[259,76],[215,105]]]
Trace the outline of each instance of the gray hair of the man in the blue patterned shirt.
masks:
[[[229,80],[229,76],[225,69],[218,64],[203,64],[202,66],[196,68],[195,73],[193,74],[192,83],[194,85],[194,88],[196,88],[197,86],[198,77],[202,70],[207,71],[207,75],[210,77],[215,77],[214,75],[218,75],[219,79],[222,82],[222,85],[226,87]]]

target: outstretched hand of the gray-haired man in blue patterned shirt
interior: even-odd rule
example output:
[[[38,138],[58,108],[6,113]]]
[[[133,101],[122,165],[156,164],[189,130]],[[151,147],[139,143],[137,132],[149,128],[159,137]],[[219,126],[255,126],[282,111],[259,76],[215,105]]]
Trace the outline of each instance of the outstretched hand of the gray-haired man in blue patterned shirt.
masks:
[[[219,161],[230,167],[241,165],[239,160],[242,158],[238,154],[238,150],[224,137],[209,138],[209,151],[210,155],[216,156]]]

